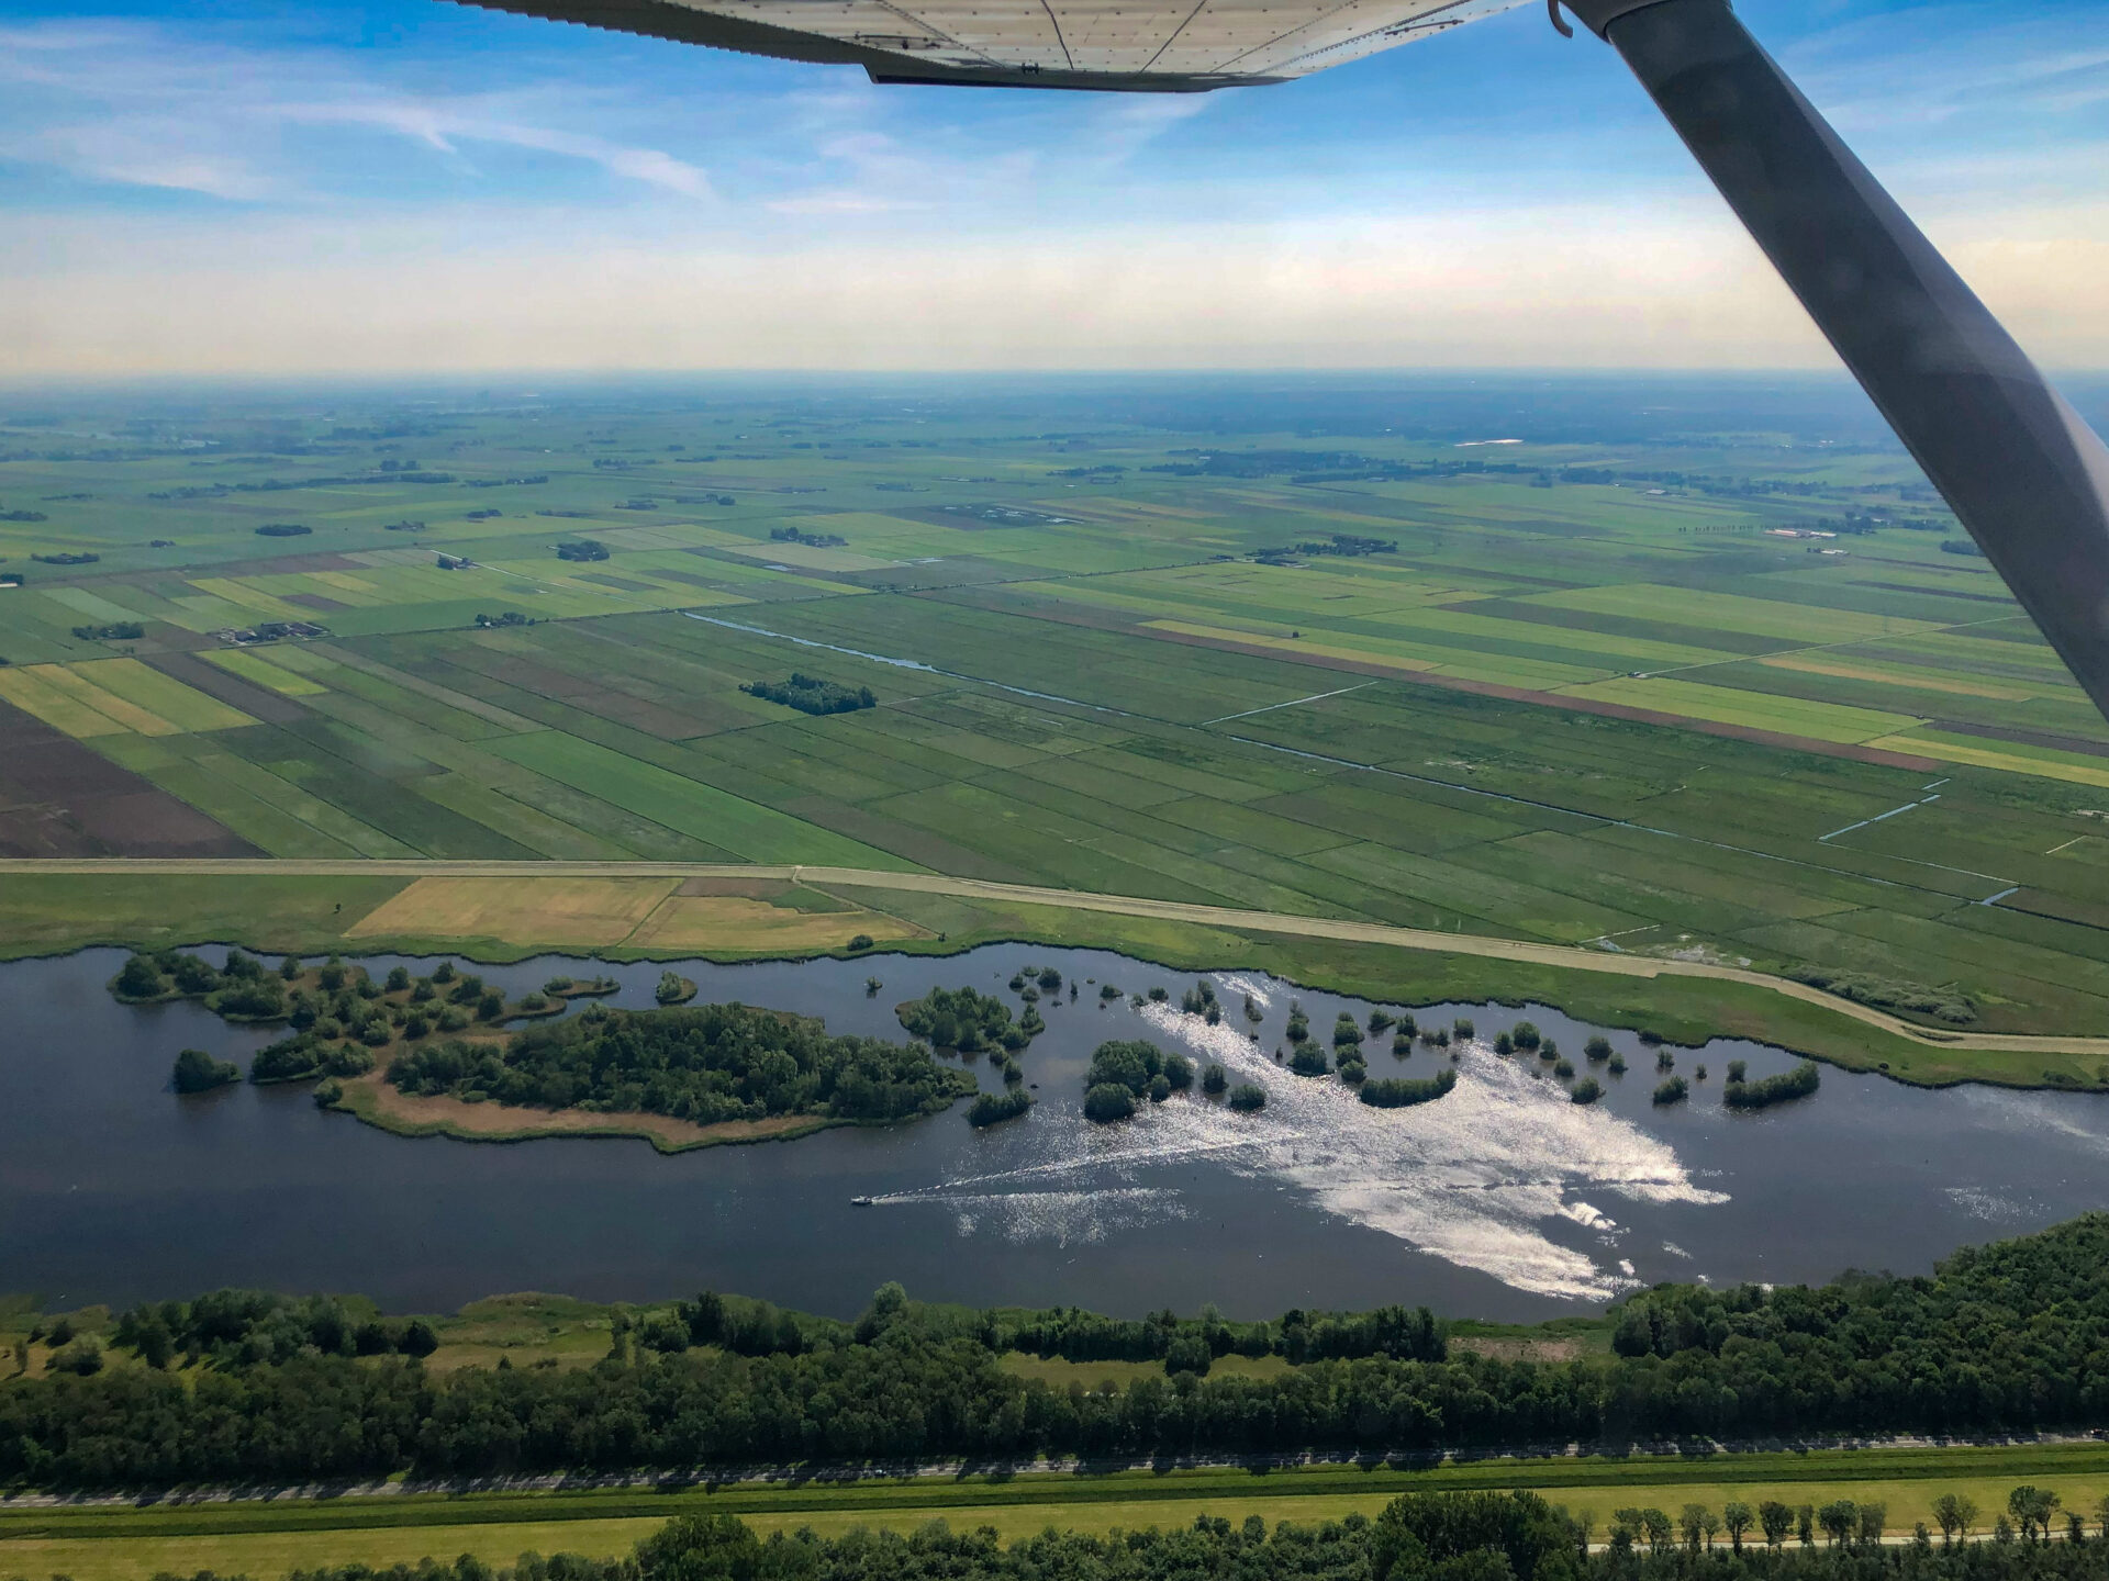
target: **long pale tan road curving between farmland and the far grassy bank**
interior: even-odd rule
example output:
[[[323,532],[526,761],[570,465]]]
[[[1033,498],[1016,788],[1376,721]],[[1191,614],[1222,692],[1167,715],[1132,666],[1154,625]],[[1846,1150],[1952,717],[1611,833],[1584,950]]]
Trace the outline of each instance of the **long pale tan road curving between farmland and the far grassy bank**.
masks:
[[[1286,911],[1238,911],[1234,906],[1198,906],[1183,900],[1149,900],[1145,896],[1088,894],[1082,890],[1044,890],[1027,883],[991,883],[987,879],[953,879],[943,873],[886,873],[854,866],[768,866],[711,862],[432,862],[432,860],[272,860],[272,858],[0,858],[0,879],[13,873],[196,873],[228,877],[468,877],[468,879],[789,879],[812,885],[852,885],[867,890],[911,890],[945,894],[964,900],[995,900],[1002,904],[1061,906],[1065,911],[1107,911],[1120,917],[1162,917],[1166,921],[1227,928],[1242,934],[1291,934],[1297,938],[1337,938],[1352,944],[1390,944],[1396,949],[1445,951],[1449,955],[1481,955],[1495,961],[1531,961],[1578,972],[1605,972],[1628,978],[1713,978],[1748,982],[1822,1006],[1841,1016],[1879,1027],[1926,1048],[2035,1052],[2035,1054],[2103,1054],[2109,1037],[2025,1037],[1995,1033],[1951,1033],[1915,1027],[1907,1020],[1839,999],[1820,989],[1765,972],[1706,961],[1664,961],[1647,955],[1578,949],[1573,944],[1531,944],[1476,934],[1438,934],[1426,928],[1390,928],[1386,923],[1348,921],[1341,917],[1301,917]]]

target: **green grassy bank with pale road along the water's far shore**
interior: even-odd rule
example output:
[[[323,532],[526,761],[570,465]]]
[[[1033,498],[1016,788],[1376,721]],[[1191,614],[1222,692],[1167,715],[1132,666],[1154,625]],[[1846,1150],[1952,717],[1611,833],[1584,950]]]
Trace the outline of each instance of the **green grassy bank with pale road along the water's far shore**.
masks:
[[[202,871],[200,871],[202,868]],[[772,944],[755,951],[694,946],[628,946],[519,942],[504,938],[432,938],[415,934],[348,936],[375,906],[375,881],[407,885],[437,875],[502,875],[531,885],[580,875],[635,877],[744,875],[810,890],[818,900],[871,904],[882,898],[911,919],[922,936],[886,940],[879,949]],[[245,881],[251,904],[200,919],[198,938],[236,942],[257,953],[348,957],[456,955],[477,963],[563,957],[582,963],[711,961],[865,961],[884,955],[960,955],[983,944],[1105,949],[1168,972],[1259,970],[1314,993],[1341,993],[1421,1008],[1430,1003],[1542,1003],[1605,1029],[1653,1031],[1666,1043],[1698,1048],[1713,1037],[1742,1037],[1845,1071],[1873,1071],[1907,1086],[1944,1088],[1968,1081],[2004,1088],[2109,1092],[2109,1037],[1982,1033],[1919,1027],[1883,1010],[1841,999],[1793,978],[1704,961],[1624,955],[1618,951],[1485,936],[1428,934],[1329,917],[1192,906],[1135,896],[1036,890],[981,879],[903,875],[810,866],[580,864],[580,862],[249,862],[249,860],[0,860],[0,877],[67,877],[120,881],[127,906],[99,909],[97,921],[40,928],[49,913],[17,911],[15,928],[0,917],[0,959],[42,959],[82,949],[165,949],[175,940],[165,921],[183,915],[169,885],[194,887]],[[356,885],[356,915],[327,896],[331,879]],[[253,896],[257,881],[280,887]],[[306,904],[285,915],[283,890]],[[321,885],[321,887],[318,887]],[[314,894],[308,894],[316,890]],[[837,894],[848,892],[848,896]],[[879,894],[873,894],[879,892]],[[217,898],[217,896],[215,896]],[[529,898],[531,904],[531,898]],[[211,913],[213,906],[194,906]],[[112,917],[118,917],[112,921]],[[148,917],[156,921],[146,921]],[[13,932],[13,938],[8,934]],[[42,940],[27,934],[44,932]],[[158,936],[156,936],[158,934]],[[188,940],[186,940],[188,942]],[[42,949],[38,946],[42,944]],[[188,946],[196,946],[188,942]]]

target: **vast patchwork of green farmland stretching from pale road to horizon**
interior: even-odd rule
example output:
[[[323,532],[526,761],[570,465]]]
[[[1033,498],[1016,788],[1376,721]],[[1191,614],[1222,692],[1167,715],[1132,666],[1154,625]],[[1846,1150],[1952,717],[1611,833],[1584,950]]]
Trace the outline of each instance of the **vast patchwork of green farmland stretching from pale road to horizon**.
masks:
[[[0,523],[0,729],[80,755],[0,767],[0,854],[930,871],[2109,1029],[2109,725],[1900,453],[361,401],[63,424],[122,451],[0,422],[0,502],[46,516]],[[1335,533],[1394,548],[1297,548]],[[270,620],[323,635],[221,637]],[[793,668],[879,706],[740,691]],[[202,936],[11,890],[11,951]],[[335,925],[245,890],[198,928]]]

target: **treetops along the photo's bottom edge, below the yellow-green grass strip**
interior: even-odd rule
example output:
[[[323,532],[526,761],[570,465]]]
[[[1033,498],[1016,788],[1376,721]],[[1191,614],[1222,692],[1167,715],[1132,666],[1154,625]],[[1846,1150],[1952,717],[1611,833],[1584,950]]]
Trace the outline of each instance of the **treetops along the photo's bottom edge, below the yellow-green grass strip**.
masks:
[[[1662,1522],[1670,1528],[1662,1545],[1615,1526],[1609,1545],[1592,1549],[1590,1537],[1601,1535],[1594,1518],[1535,1492],[1409,1492],[1375,1520],[1350,1514],[1272,1528],[1261,1516],[1232,1524],[1206,1514],[1185,1526],[1105,1537],[1048,1526],[1012,1545],[993,1526],[761,1537],[738,1516],[677,1516],[620,1558],[523,1554],[506,1570],[472,1556],[453,1564],[428,1558],[382,1570],[293,1570],[287,1581],[2077,1581],[2103,1573],[2109,1545],[2098,1530],[2077,1528],[2056,1543],[1936,1545],[1923,1526],[1911,1543],[1888,1549],[1858,1530],[1822,1547],[1814,1533],[1793,1543],[1717,1543],[1719,1516],[1698,1507]]]

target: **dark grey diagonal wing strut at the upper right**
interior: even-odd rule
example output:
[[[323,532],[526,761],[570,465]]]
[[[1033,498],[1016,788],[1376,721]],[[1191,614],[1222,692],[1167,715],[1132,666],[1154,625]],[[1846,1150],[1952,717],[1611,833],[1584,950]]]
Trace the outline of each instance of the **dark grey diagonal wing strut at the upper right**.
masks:
[[[1565,0],[1632,67],[2109,717],[2109,449],[1727,0]]]

